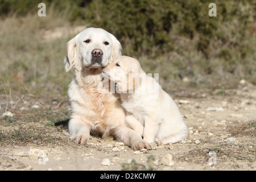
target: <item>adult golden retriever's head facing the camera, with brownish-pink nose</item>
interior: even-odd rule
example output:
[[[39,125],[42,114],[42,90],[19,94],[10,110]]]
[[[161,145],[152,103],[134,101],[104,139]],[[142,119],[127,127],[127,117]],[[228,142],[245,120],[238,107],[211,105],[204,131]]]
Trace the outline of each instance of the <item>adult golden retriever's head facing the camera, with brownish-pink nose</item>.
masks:
[[[102,28],[86,28],[67,43],[65,70],[104,68],[122,55],[121,49],[114,35]]]

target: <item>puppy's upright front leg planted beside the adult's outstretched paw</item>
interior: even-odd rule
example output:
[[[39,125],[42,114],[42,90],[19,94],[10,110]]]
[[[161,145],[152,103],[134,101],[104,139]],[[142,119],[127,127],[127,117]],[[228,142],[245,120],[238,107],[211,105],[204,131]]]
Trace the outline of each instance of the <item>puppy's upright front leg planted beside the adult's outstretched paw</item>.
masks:
[[[156,134],[159,130],[159,122],[151,117],[145,118],[143,139],[148,142],[155,142]]]

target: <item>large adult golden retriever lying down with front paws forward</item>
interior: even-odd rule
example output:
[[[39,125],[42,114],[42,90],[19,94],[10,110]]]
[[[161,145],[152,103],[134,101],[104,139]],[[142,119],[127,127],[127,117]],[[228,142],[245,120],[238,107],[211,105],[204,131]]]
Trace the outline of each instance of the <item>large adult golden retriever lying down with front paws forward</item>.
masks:
[[[90,133],[113,136],[134,150],[150,149],[141,135],[127,126],[125,110],[117,93],[107,92],[98,84],[101,69],[121,56],[121,44],[101,28],[86,28],[67,43],[65,70],[74,69],[68,88],[72,114],[68,123],[71,139],[86,143]]]

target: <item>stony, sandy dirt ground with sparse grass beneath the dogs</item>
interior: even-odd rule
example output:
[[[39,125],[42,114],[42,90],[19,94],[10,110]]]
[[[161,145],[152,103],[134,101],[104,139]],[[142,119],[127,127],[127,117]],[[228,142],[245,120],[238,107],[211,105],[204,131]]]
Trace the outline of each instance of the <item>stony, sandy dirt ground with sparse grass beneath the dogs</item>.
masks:
[[[195,89],[172,98],[189,136],[148,151],[133,151],[117,140],[94,136],[86,146],[71,142],[67,97],[17,98],[10,116],[0,120],[0,169],[256,170],[256,86],[242,81],[237,89]]]

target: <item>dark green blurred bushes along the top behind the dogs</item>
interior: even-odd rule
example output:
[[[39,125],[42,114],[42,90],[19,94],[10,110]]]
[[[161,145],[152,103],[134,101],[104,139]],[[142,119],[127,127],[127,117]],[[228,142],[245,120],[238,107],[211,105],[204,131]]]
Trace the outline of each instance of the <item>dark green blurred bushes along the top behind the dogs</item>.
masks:
[[[39,2],[0,0],[0,15],[36,13]],[[217,5],[213,17],[208,15],[206,0],[44,2],[56,11],[68,10],[73,23],[111,32],[120,40],[124,55],[152,60],[170,57],[167,67],[178,68],[181,77],[216,70],[241,76],[256,72],[255,1],[213,1]]]

